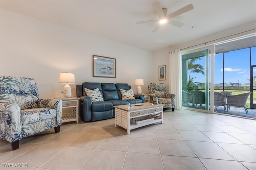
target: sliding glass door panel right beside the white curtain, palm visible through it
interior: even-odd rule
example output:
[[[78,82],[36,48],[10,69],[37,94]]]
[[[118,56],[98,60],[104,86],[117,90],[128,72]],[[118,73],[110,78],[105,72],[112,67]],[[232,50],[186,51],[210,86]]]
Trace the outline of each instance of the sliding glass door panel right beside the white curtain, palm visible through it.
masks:
[[[182,106],[210,110],[210,49],[182,53]]]

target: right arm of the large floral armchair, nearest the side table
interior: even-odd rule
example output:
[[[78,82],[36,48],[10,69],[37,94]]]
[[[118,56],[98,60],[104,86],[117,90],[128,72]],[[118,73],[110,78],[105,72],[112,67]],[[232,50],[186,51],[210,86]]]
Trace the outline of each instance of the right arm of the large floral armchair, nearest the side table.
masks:
[[[50,108],[50,109],[56,109],[56,127],[60,126],[61,116],[62,116],[62,100],[58,99],[38,99],[37,100],[37,106],[39,108]]]

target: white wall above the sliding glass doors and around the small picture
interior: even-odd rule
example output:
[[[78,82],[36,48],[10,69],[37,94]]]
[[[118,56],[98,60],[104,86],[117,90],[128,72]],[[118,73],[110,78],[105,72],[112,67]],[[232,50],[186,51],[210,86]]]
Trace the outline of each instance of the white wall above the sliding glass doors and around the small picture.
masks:
[[[158,64],[159,66],[166,65],[166,74],[167,74],[166,81],[158,81],[158,82],[163,82],[164,84],[166,84],[167,92],[169,92],[168,86],[169,86],[169,75],[170,75],[169,74],[169,68],[170,68],[169,52],[170,51],[172,51],[174,49],[183,49],[182,51],[187,51],[187,50],[191,50],[191,49],[204,47],[207,45],[212,45],[212,44],[215,44],[218,42],[227,41],[229,39],[246,36],[246,35],[253,34],[253,33],[256,33],[256,21],[252,21],[250,23],[246,23],[246,24],[240,25],[238,27],[226,29],[226,30],[220,31],[218,33],[208,35],[206,37],[200,37],[193,41],[188,41],[186,43],[182,43],[179,45],[175,45],[175,46],[168,47],[168,48],[162,49],[160,51],[154,52],[154,64]],[[215,41],[213,41],[213,40],[215,40]],[[195,47],[191,47],[191,46],[195,46]],[[156,75],[154,75],[154,77],[155,76]]]

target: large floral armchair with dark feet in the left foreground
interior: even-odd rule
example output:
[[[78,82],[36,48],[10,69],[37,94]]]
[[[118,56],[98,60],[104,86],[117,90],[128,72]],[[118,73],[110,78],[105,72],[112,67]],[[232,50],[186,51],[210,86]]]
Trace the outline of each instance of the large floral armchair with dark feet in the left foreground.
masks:
[[[60,132],[62,100],[39,99],[34,79],[0,76],[0,139],[19,140],[54,127]]]

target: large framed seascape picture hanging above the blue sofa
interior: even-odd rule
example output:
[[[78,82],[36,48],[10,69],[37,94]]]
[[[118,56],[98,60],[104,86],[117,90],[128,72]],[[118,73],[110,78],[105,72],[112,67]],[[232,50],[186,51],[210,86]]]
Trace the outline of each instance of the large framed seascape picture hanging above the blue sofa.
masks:
[[[92,55],[92,72],[94,77],[116,78],[116,59]]]

